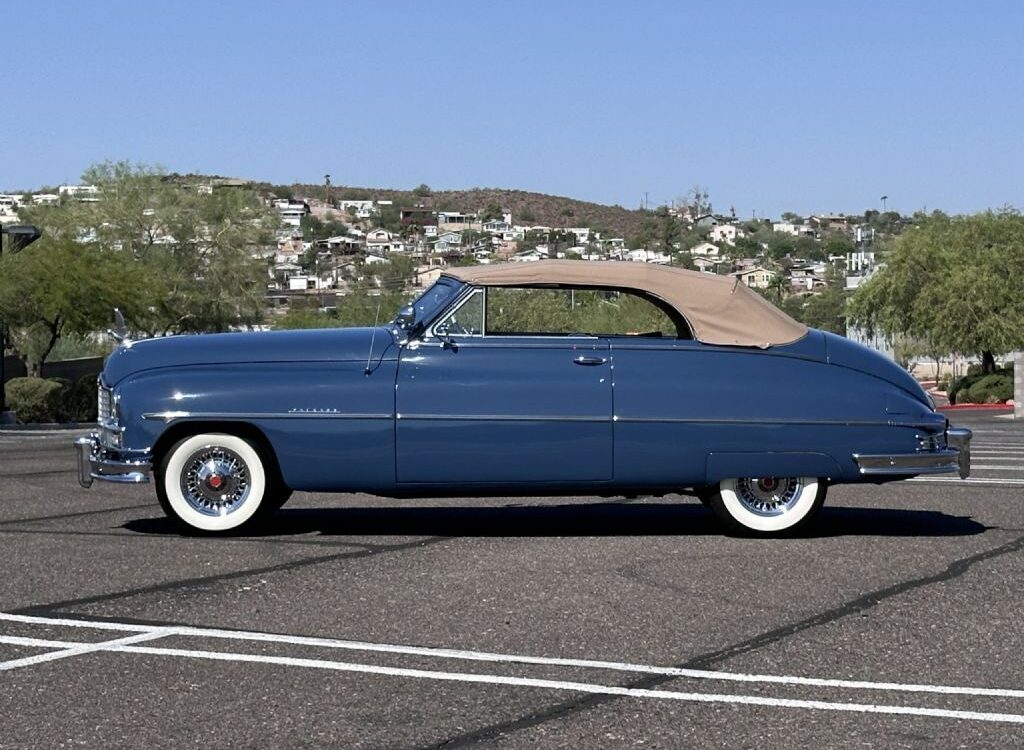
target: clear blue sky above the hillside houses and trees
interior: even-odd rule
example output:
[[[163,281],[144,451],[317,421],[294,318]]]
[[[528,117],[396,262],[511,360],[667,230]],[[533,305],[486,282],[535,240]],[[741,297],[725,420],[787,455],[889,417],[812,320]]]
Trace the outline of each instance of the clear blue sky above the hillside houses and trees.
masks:
[[[127,159],[717,210],[1024,207],[1024,4],[34,2],[0,187]]]

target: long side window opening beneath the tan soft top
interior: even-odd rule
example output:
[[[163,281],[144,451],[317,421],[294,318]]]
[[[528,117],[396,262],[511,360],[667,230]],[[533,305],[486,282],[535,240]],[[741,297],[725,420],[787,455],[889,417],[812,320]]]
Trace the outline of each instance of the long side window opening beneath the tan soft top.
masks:
[[[486,335],[573,334],[677,338],[685,337],[688,327],[651,300],[624,290],[487,289]]]

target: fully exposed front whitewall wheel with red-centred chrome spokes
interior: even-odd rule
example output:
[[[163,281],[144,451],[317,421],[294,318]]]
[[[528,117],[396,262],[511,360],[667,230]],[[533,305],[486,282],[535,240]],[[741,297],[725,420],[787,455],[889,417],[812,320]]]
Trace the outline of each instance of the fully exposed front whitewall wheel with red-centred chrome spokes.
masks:
[[[156,478],[164,511],[200,532],[238,529],[257,515],[267,496],[263,459],[232,434],[185,437],[168,451]]]

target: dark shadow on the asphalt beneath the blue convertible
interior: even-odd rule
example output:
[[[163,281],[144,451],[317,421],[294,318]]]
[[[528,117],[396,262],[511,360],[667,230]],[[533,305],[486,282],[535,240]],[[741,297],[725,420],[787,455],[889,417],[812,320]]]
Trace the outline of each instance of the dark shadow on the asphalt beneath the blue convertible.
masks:
[[[164,517],[139,518],[124,528],[139,534],[174,534]],[[957,537],[987,527],[936,510],[828,507],[798,538],[881,536]],[[242,537],[325,536],[627,537],[722,536],[723,526],[697,503],[573,503],[559,505],[284,508]]]

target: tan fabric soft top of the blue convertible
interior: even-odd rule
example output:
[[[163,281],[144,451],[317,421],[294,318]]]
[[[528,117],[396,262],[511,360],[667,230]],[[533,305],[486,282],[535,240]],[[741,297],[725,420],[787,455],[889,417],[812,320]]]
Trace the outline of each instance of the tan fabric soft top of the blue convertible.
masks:
[[[738,279],[651,263],[538,260],[450,267],[444,274],[484,287],[582,286],[635,289],[672,305],[702,343],[762,348],[796,341],[807,326]]]

